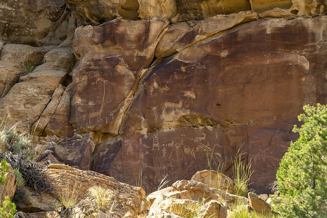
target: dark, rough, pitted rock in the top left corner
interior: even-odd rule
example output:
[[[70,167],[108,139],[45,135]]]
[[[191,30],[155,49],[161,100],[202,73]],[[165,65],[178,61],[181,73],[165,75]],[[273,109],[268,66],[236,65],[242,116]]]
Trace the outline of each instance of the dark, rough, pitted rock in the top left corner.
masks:
[[[0,5],[0,39],[28,45],[59,45],[66,38],[65,18],[69,11],[65,11],[64,0],[1,0]]]

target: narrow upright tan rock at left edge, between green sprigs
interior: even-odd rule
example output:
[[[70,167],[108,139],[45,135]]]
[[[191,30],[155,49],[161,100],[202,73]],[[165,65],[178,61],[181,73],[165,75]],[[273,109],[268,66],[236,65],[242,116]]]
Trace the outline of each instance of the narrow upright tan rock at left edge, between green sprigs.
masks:
[[[10,200],[14,197],[16,191],[16,179],[14,175],[14,171],[9,164],[9,170],[6,173],[6,180],[4,185],[0,185],[0,205],[6,197],[8,196]]]

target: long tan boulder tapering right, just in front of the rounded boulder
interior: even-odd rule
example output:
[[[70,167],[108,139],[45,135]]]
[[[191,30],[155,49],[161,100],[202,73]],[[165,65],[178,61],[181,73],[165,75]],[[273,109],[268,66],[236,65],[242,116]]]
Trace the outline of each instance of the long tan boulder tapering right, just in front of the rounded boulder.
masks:
[[[232,203],[236,200],[248,202],[248,199],[245,197],[236,196],[220,189],[209,188],[206,184],[198,181],[180,180],[175,182],[171,187],[178,191],[189,191],[192,200],[195,201],[202,201],[202,199],[205,199],[204,202],[211,200],[223,200],[228,201],[229,203]]]

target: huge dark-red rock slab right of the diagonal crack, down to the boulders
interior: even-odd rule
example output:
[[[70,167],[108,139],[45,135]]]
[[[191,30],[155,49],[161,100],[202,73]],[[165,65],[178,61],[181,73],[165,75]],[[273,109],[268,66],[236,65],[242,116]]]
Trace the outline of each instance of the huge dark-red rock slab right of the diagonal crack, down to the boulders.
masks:
[[[302,106],[327,103],[326,21],[259,19],[156,62],[117,141],[96,148],[92,169],[131,184],[142,169],[143,184],[155,190],[166,173],[171,181],[190,179],[206,169],[208,157],[214,164],[203,144],[227,157],[227,169],[243,145],[242,159],[251,158],[254,171],[251,188],[266,192],[298,137],[291,130]]]

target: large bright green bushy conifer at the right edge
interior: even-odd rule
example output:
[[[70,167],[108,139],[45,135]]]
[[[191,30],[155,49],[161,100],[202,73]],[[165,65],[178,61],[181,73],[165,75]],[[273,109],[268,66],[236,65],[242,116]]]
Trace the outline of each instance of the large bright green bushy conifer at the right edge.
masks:
[[[300,138],[292,142],[277,171],[274,211],[282,217],[327,217],[327,105],[305,105]]]

